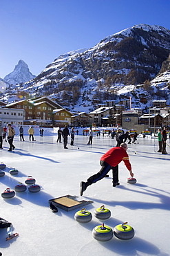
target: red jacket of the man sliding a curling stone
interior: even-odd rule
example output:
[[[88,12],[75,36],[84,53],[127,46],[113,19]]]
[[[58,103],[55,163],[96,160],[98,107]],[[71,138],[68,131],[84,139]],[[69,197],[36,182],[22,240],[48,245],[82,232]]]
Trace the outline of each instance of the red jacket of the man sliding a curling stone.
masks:
[[[127,169],[131,171],[129,156],[123,147],[112,147],[100,158],[100,161],[105,161],[111,166],[116,166],[123,161]]]

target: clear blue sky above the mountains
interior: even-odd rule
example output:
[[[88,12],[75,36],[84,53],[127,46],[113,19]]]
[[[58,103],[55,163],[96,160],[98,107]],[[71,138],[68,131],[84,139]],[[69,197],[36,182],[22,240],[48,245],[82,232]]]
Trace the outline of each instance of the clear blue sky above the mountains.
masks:
[[[170,30],[169,0],[0,0],[0,77],[19,60],[38,75],[56,57],[137,24]]]

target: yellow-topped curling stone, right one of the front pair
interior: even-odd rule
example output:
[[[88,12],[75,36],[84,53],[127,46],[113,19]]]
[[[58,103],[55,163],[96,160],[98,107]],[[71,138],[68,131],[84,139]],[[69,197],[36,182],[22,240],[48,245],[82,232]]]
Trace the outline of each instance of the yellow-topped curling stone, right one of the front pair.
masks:
[[[127,222],[114,227],[114,235],[118,239],[129,240],[134,237],[134,228],[127,225]]]

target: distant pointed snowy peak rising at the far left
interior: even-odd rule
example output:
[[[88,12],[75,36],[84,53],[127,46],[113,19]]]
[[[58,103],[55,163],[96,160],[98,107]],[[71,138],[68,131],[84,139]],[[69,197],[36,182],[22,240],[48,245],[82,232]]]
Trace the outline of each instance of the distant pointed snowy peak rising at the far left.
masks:
[[[15,66],[14,71],[6,75],[3,80],[8,82],[8,84],[16,85],[28,82],[34,77],[36,76],[32,75],[30,69],[28,68],[28,64],[26,64],[23,60],[19,60],[19,63]]]

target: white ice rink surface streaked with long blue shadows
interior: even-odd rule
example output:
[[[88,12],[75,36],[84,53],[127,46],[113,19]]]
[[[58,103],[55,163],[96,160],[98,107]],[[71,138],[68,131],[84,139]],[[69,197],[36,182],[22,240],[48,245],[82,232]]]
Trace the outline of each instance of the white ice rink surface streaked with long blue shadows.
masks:
[[[79,196],[79,183],[100,170],[100,157],[115,140],[109,137],[94,137],[94,144],[87,145],[86,136],[75,136],[75,145],[63,149],[56,143],[56,136],[35,136],[35,142],[19,141],[15,136],[14,152],[8,152],[8,143],[3,143],[0,161],[7,165],[0,177],[0,191],[24,183],[27,176],[33,176],[41,192],[16,193],[12,199],[1,197],[0,217],[12,222],[13,232],[19,237],[6,241],[6,229],[0,230],[0,251],[3,255],[56,256],[56,255],[170,255],[169,246],[169,154],[162,155],[158,141],[138,138],[139,144],[129,145],[128,154],[133,167],[136,184],[129,184],[125,165],[120,163],[120,185],[113,188],[111,172],[109,178],[91,185]],[[170,141],[167,140],[170,144]],[[78,149],[79,147],[79,149]],[[134,154],[136,152],[136,154]],[[170,153],[167,146],[167,152]],[[9,174],[10,167],[19,174]],[[89,223],[80,224],[74,220],[78,210],[66,212],[59,209],[53,213],[48,200],[70,194],[79,200],[92,200],[86,209],[92,212]],[[105,221],[114,228],[128,221],[135,230],[135,237],[128,241],[113,237],[107,242],[98,242],[92,237],[92,229],[101,221],[94,217],[94,210],[101,205],[111,210],[111,218]]]

